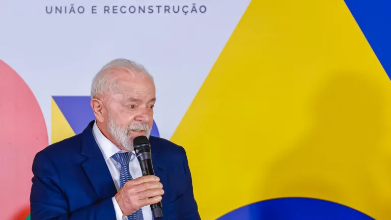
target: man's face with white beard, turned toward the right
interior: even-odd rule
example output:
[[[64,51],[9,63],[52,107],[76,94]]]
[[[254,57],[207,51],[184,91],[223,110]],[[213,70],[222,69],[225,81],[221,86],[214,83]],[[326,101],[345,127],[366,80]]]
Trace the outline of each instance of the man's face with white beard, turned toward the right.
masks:
[[[118,91],[109,92],[105,99],[105,127],[116,144],[132,151],[134,137],[149,137],[153,124],[155,86],[150,78],[132,76],[124,70],[116,70],[115,77],[120,87]]]

